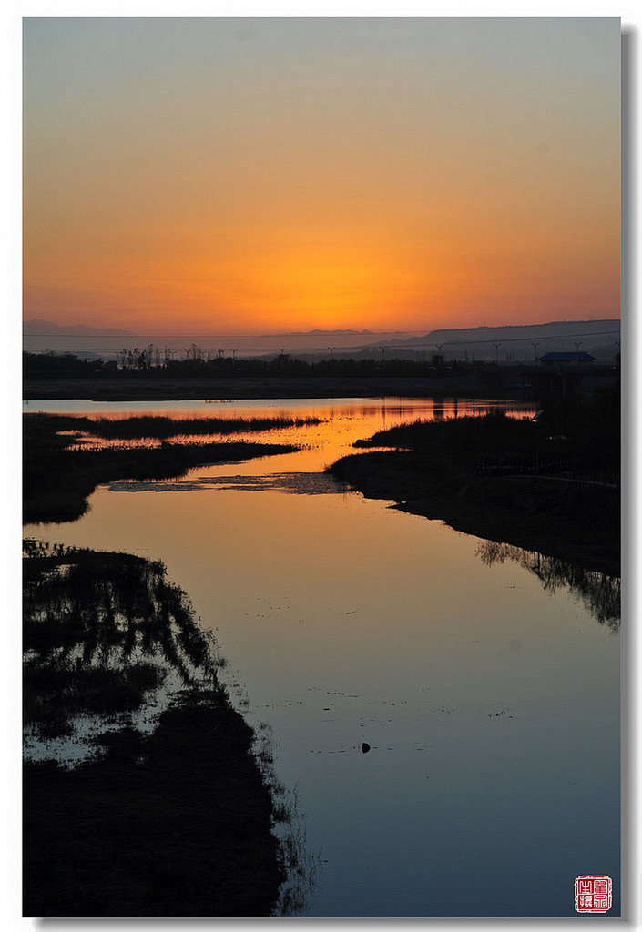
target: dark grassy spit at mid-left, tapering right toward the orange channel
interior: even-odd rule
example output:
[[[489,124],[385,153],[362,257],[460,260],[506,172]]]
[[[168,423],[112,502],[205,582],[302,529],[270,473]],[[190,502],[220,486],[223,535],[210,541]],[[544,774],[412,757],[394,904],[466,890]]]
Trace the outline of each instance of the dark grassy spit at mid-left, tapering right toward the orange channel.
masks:
[[[163,443],[155,448],[134,449],[69,449],[76,438],[60,432],[84,431],[87,420],[89,418],[56,415],[23,417],[25,523],[73,521],[86,512],[87,499],[97,486],[120,479],[172,479],[201,463],[238,462],[291,453],[297,449],[293,445],[242,441],[194,445]],[[119,425],[119,431],[127,432],[130,430],[128,420],[125,418],[114,423]],[[140,424],[134,425],[132,433],[122,435],[140,435],[140,429]]]

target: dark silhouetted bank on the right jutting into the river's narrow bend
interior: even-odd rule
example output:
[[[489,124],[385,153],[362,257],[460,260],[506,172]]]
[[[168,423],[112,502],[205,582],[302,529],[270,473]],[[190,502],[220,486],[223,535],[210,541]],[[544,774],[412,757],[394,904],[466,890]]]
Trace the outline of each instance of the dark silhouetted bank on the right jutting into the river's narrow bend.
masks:
[[[602,427],[615,434],[619,418]],[[607,425],[607,426],[604,426]],[[600,423],[594,422],[600,430]],[[360,446],[390,446],[344,457],[329,472],[369,498],[389,499],[413,514],[456,530],[620,575],[619,489],[567,481],[582,467],[587,482],[617,471],[619,444],[579,430],[559,434],[551,424],[511,418],[459,418],[417,423],[376,434]],[[592,451],[591,458],[588,451]],[[495,463],[481,475],[480,462]],[[502,473],[524,462],[524,474]],[[562,462],[562,472],[528,474],[533,462]],[[571,473],[575,474],[575,473]]]

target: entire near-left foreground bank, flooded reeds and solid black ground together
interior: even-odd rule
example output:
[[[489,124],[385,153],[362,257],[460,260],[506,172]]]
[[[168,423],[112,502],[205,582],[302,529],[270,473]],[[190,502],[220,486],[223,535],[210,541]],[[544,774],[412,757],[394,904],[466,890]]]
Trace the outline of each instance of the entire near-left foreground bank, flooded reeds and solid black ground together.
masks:
[[[24,569],[25,915],[269,916],[286,807],[185,594],[133,555],[32,542]],[[63,766],[63,737],[93,756]]]

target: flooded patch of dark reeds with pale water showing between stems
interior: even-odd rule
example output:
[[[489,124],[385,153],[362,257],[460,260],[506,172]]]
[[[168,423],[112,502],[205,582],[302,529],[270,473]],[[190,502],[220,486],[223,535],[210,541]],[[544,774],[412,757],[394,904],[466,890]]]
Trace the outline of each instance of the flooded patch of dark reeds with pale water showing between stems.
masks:
[[[213,641],[161,563],[36,541],[24,555],[23,710],[36,734],[132,712],[170,671],[219,688]]]

